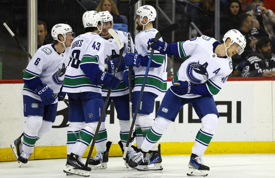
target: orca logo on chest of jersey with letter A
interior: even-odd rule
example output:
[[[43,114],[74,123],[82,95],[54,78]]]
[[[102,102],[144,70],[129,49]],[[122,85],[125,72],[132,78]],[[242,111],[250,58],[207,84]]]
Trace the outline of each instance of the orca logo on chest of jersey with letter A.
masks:
[[[205,62],[204,64],[199,64],[198,62],[190,62],[187,66],[187,76],[190,79],[190,81],[194,82],[194,83],[201,83],[201,80],[199,78],[201,78],[200,75],[203,76],[204,80],[208,79],[208,72],[206,70],[208,66],[208,63]],[[195,73],[194,73],[195,72]],[[200,75],[197,75],[197,74]],[[195,74],[195,75],[194,75]]]

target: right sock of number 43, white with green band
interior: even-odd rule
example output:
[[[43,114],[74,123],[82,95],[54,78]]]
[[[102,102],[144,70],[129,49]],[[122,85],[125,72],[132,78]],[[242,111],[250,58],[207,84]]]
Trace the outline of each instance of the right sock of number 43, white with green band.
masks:
[[[76,143],[72,146],[72,153],[82,157],[85,153],[87,147],[91,143],[95,130],[97,128],[98,122],[89,122],[86,123],[84,128],[79,132],[79,138],[76,140]]]

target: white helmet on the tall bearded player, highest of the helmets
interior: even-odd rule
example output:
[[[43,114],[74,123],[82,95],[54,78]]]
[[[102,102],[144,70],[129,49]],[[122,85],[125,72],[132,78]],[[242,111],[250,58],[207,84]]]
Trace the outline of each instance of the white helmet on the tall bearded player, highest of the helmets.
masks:
[[[153,6],[144,5],[144,6],[141,6],[137,9],[136,15],[140,16],[140,23],[141,23],[141,21],[143,21],[144,17],[147,17],[148,22],[151,22],[151,21],[154,21],[156,19],[157,12],[156,12],[156,9]],[[146,24],[142,24],[142,25],[146,25]]]

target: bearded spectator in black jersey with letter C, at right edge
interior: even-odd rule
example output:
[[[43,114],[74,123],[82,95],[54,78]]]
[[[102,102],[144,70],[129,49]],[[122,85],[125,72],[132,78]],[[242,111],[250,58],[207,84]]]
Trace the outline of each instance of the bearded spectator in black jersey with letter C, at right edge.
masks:
[[[247,59],[243,77],[275,77],[275,55],[271,51],[271,40],[261,37],[256,43],[257,52]]]

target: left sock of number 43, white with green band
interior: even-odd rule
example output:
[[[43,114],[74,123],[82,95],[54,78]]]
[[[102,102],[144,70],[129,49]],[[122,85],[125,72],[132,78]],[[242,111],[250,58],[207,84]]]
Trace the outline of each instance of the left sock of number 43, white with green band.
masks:
[[[79,132],[85,126],[85,122],[70,122],[67,131],[67,155],[72,151],[72,146],[79,139]]]

